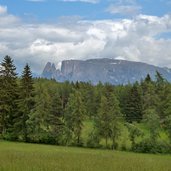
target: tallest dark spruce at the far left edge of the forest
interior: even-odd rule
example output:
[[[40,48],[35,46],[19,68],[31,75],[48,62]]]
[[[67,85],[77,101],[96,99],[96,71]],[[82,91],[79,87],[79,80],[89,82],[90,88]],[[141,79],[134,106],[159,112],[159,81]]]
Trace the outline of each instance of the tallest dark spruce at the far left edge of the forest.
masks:
[[[17,115],[18,85],[16,68],[10,56],[5,56],[1,71],[1,132],[7,139],[16,139],[14,131],[15,117]]]

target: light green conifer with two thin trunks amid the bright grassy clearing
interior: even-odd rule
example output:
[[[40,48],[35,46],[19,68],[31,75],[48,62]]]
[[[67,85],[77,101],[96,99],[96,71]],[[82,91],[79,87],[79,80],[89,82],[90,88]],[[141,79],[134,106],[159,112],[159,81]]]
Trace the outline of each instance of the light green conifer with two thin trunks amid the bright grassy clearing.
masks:
[[[121,121],[122,115],[116,96],[112,92],[108,94],[108,98],[102,95],[100,107],[95,117],[95,127],[99,136],[105,139],[106,148],[108,147],[108,139],[112,141],[112,149],[117,147],[116,139],[120,134]]]

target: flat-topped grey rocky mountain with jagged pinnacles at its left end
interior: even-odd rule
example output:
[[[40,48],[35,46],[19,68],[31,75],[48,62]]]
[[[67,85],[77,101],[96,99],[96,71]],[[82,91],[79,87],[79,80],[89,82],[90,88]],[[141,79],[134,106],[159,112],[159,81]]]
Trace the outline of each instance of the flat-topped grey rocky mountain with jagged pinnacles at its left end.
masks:
[[[42,77],[57,81],[83,81],[97,84],[111,83],[114,85],[140,81],[150,74],[154,79],[156,71],[160,72],[168,81],[171,81],[171,69],[161,68],[142,62],[132,62],[115,59],[65,60],[61,69],[48,62],[43,70]]]

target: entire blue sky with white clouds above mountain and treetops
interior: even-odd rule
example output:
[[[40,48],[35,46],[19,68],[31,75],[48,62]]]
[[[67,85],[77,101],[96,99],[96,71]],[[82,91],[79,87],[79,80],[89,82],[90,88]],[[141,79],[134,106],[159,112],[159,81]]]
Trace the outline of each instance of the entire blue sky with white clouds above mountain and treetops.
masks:
[[[171,0],[0,0],[0,61],[116,58],[171,68]]]

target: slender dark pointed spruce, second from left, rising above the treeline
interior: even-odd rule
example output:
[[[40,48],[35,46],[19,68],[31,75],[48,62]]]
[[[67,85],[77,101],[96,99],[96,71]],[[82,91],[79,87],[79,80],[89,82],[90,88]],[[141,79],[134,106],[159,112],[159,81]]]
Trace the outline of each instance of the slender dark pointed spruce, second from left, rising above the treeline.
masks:
[[[20,99],[19,99],[19,108],[20,112],[16,118],[15,127],[20,130],[23,141],[28,141],[28,125],[27,121],[29,115],[34,107],[34,88],[33,88],[33,79],[30,67],[28,64],[24,67],[24,71],[21,76],[20,84]]]

